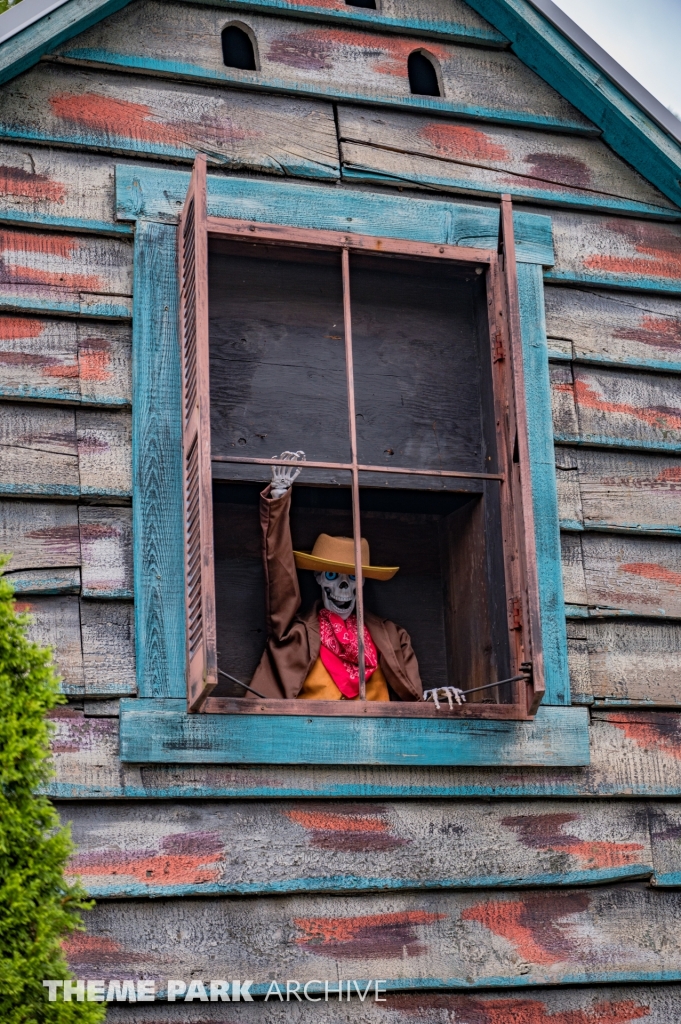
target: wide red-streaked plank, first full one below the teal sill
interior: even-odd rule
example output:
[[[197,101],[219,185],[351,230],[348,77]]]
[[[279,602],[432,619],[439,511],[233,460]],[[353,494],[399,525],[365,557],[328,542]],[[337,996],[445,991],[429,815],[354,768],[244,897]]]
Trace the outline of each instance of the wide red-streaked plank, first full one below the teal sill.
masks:
[[[97,899],[587,885],[648,878],[634,803],[59,806]],[[444,852],[444,856],[442,853]]]

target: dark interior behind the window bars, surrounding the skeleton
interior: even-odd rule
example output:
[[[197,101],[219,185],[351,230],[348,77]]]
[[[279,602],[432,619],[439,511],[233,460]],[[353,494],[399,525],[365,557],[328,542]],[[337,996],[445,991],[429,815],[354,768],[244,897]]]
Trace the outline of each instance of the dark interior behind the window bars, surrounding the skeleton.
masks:
[[[360,462],[496,472],[483,279],[351,255],[350,285]],[[213,455],[348,461],[340,255],[214,241],[209,291]],[[265,643],[258,495],[269,468],[215,462],[213,480],[219,665],[248,681]],[[359,482],[372,561],[400,566],[367,581],[367,607],[408,630],[424,686],[510,675],[498,482],[378,471]],[[300,550],[323,531],[351,536],[349,473],[304,469],[292,530]],[[299,579],[309,606],[318,588]],[[242,695],[230,685],[214,695]]]

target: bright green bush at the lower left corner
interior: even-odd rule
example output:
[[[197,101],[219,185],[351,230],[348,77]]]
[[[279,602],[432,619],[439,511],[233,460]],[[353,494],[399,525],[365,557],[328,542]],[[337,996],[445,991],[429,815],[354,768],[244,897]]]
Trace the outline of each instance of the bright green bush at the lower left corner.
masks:
[[[37,793],[50,775],[45,716],[63,697],[50,651],[27,639],[26,625],[0,577],[0,1020],[96,1024],[100,1004],[48,1002],[42,985],[71,977],[60,939],[82,930],[91,903],[65,880],[71,838]]]

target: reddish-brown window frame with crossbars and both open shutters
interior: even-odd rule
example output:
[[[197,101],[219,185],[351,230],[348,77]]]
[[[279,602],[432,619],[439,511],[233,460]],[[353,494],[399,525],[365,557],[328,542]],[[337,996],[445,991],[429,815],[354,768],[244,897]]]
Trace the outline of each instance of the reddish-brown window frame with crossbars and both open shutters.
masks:
[[[197,157],[178,227],[180,348],[182,353],[182,450],[185,504],[185,625],[187,709],[229,715],[300,715],[376,718],[533,718],[545,692],[539,613],[539,581],[527,444],[522,349],[518,309],[513,208],[502,199],[497,250],[433,245],[401,239],[257,223],[208,216],[206,158]],[[341,257],[345,378],[349,418],[350,462],[307,462],[310,468],[348,471],[352,496],[352,534],[357,579],[359,633],[359,698],[357,700],[213,697],[218,682],[216,601],[213,554],[212,463],[272,466],[276,459],[216,456],[210,431],[208,248],[212,239],[242,241],[334,252]],[[482,271],[487,302],[490,370],[496,420],[498,468],[474,473],[434,469],[368,466],[358,462],[354,416],[350,269],[351,253],[445,261]],[[437,476],[498,480],[507,594],[507,628],[511,677],[500,680],[511,689],[509,702],[468,702],[439,708],[426,701],[375,702],[366,699],[364,660],[364,594],[359,538],[359,473]],[[446,685],[446,681],[442,681]],[[495,692],[492,690],[492,692]],[[499,692],[498,690],[496,691]]]

